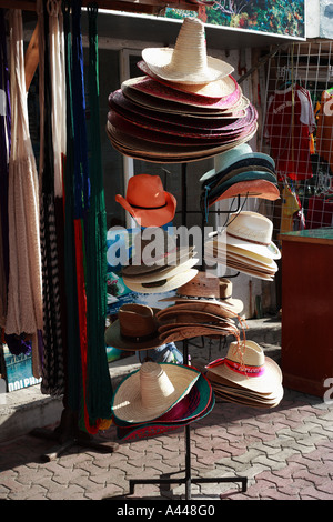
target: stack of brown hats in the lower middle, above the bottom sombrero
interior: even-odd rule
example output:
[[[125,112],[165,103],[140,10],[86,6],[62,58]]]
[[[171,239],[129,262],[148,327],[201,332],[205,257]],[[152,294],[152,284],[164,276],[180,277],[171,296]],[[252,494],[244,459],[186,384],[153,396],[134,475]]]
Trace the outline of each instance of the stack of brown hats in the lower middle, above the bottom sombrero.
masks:
[[[229,280],[198,272],[189,283],[178,289],[176,295],[161,300],[172,300],[175,304],[157,312],[158,320],[162,322],[159,327],[160,340],[175,342],[201,335],[239,338],[234,319],[243,303],[232,299],[231,290]]]

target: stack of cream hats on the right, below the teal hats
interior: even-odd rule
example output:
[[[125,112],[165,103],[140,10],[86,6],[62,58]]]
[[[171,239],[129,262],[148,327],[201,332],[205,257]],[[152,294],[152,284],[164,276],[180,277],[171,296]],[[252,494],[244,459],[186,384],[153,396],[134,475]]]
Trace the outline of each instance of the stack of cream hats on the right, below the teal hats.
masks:
[[[230,267],[253,278],[273,281],[281,252],[272,241],[273,223],[258,212],[231,214],[226,227],[204,244],[208,263]]]

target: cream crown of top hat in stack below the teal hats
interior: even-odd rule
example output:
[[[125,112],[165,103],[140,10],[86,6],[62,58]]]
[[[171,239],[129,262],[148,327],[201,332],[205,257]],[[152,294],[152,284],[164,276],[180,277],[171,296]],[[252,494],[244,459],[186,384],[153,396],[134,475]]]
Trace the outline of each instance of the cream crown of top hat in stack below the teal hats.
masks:
[[[243,211],[232,214],[226,223],[226,233],[244,241],[269,245],[272,241],[273,223],[256,212]]]

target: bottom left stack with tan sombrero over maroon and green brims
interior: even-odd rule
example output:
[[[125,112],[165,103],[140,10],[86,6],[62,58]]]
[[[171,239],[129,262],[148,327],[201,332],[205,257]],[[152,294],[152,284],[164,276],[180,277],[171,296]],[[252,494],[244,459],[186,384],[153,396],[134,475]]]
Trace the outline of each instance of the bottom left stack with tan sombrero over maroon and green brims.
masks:
[[[198,421],[214,402],[210,381],[193,367],[149,361],[119,384],[112,414],[119,439],[139,440]]]

